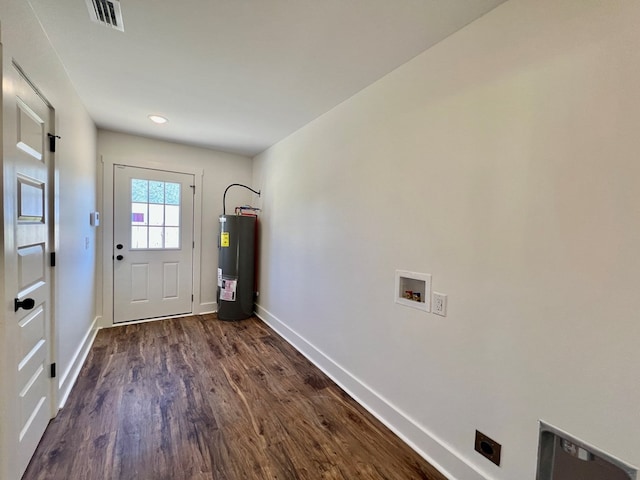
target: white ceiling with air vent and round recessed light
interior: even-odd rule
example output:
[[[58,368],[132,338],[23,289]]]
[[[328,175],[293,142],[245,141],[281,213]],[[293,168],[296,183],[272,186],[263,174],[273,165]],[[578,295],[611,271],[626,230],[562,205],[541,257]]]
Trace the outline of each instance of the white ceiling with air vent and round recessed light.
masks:
[[[98,127],[253,156],[504,1],[30,3]]]

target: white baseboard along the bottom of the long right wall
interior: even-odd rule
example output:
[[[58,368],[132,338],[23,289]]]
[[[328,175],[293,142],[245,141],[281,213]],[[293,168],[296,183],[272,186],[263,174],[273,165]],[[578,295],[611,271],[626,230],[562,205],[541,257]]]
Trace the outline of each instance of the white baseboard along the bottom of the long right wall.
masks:
[[[257,304],[256,315],[447,478],[487,480],[443,441]]]

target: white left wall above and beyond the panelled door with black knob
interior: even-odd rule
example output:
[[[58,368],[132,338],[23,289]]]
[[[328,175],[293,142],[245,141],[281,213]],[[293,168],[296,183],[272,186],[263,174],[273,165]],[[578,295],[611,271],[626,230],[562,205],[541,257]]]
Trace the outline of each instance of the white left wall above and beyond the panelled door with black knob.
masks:
[[[96,204],[97,133],[28,2],[2,0],[0,23],[3,56],[16,61],[53,105],[55,131],[62,137],[55,154],[58,197],[53,221],[57,266],[52,272],[53,350],[58,371],[57,399],[62,402],[95,332],[96,232],[89,226],[89,212]],[[0,341],[4,344],[13,340]],[[0,425],[5,425],[4,415],[15,416],[17,412],[3,411],[2,415]],[[0,455],[0,476],[14,456],[6,453]]]

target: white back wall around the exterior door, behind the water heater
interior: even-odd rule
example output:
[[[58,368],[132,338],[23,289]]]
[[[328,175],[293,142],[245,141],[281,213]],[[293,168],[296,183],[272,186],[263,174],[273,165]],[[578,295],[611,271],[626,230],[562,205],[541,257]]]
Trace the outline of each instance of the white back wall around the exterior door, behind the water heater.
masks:
[[[161,126],[159,128],[162,128]],[[196,176],[202,181],[202,188],[196,191],[196,262],[194,265],[194,313],[203,313],[217,310],[216,306],[216,285],[218,268],[218,241],[217,234],[219,228],[218,217],[222,215],[222,195],[225,188],[232,183],[243,183],[251,186],[252,160],[241,155],[219,152],[199,147],[180,145],[177,143],[163,142],[149,138],[116,133],[107,130],[98,132],[98,152],[102,159],[100,165],[99,184],[105,188],[105,180],[110,183],[112,175],[103,169],[113,168],[114,163],[134,166],[146,166],[152,168],[166,168],[172,171],[185,171],[187,173],[197,172]],[[107,195],[104,195],[106,191]],[[101,210],[106,213],[102,225],[105,249],[101,251],[101,259],[107,265],[101,278],[105,279],[102,285],[100,280],[100,291],[106,287],[103,298],[98,299],[98,306],[101,312],[109,318],[104,318],[103,325],[112,322],[110,315],[109,283],[111,262],[112,233],[107,229],[111,227],[111,216],[109,215],[109,191],[111,186],[106,186],[106,190],[101,193]],[[104,200],[103,200],[104,199]],[[243,188],[234,187],[227,193],[227,213],[233,213],[237,205],[245,205],[255,202],[255,197],[251,192]],[[106,204],[106,205],[105,205]],[[111,207],[112,208],[112,207]],[[199,233],[199,235],[198,235]],[[102,272],[102,270],[101,270]],[[102,313],[101,313],[102,314]]]

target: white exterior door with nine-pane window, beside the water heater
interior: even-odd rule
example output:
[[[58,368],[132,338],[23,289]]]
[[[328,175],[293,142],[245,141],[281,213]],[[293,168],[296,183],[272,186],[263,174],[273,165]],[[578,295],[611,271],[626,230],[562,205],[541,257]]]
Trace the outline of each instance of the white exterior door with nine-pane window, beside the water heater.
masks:
[[[114,322],[192,312],[194,177],[114,165]]]

